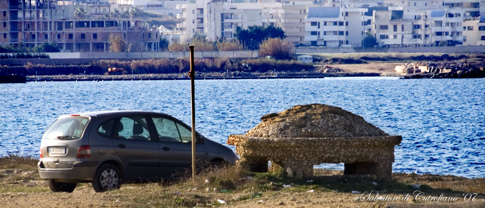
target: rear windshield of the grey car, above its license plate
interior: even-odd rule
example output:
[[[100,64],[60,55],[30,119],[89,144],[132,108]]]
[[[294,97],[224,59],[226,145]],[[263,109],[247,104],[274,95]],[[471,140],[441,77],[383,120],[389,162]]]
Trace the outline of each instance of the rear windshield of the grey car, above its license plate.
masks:
[[[88,123],[87,118],[67,117],[50,125],[43,139],[79,139]]]

